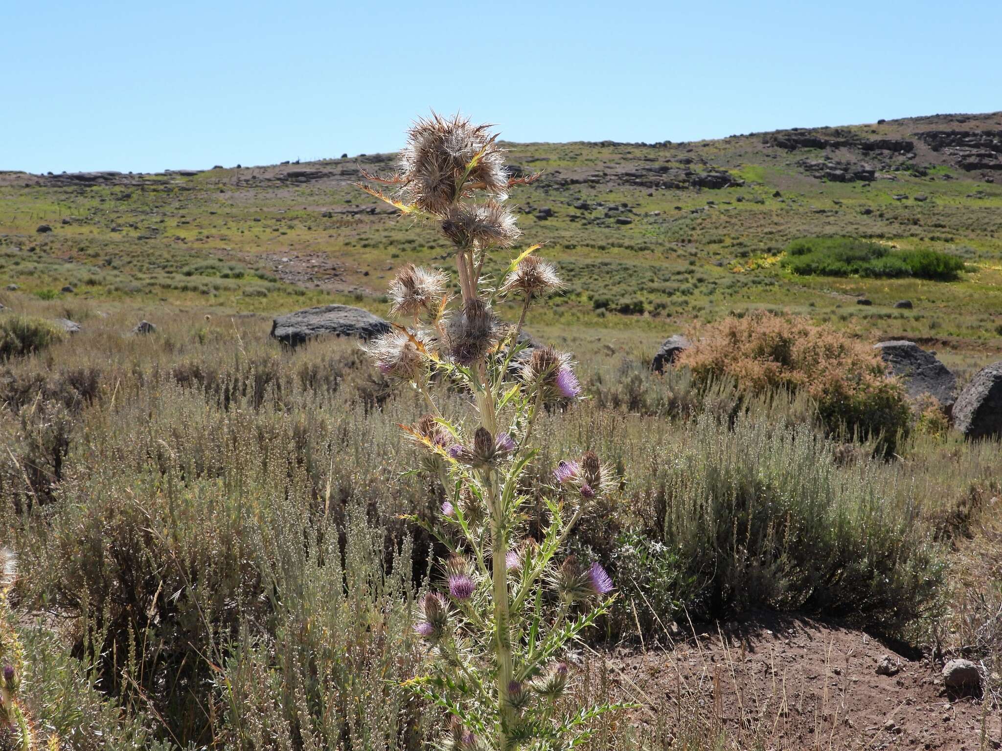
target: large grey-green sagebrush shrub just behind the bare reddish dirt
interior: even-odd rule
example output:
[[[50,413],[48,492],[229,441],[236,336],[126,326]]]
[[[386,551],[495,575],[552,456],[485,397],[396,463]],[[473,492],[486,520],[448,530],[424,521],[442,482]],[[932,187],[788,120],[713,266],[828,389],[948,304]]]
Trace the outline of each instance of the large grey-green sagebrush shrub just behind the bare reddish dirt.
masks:
[[[677,556],[675,597],[709,616],[766,604],[883,630],[918,617],[942,567],[916,507],[871,474],[841,469],[808,427],[700,417],[649,489]]]

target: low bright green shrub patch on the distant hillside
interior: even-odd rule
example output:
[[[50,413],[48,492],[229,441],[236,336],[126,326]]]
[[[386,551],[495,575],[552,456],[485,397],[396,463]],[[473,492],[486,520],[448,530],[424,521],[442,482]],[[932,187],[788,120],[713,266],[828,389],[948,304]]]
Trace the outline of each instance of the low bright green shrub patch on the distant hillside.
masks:
[[[895,250],[852,237],[804,237],[787,245],[786,251],[783,265],[803,276],[917,276],[950,281],[964,269],[960,258],[938,250]]]

